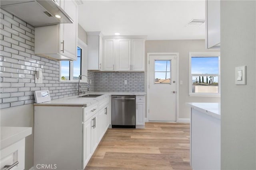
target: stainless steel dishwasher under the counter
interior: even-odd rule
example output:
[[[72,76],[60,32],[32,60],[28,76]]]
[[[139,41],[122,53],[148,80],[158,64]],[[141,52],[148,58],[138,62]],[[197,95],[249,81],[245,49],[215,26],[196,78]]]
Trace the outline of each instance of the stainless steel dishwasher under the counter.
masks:
[[[112,96],[112,128],[135,128],[136,96]]]

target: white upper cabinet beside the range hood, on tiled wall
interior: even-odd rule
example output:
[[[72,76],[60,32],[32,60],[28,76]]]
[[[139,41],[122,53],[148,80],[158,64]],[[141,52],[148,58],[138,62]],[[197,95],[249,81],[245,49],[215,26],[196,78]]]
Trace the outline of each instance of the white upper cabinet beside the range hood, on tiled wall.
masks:
[[[58,1],[74,23],[35,28],[35,54],[57,60],[77,59],[78,10],[75,1]]]

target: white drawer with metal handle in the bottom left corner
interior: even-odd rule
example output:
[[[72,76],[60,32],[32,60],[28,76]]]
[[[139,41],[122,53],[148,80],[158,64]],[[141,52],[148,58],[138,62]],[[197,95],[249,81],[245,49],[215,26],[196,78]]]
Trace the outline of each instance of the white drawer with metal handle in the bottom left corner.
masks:
[[[10,170],[24,169],[24,157],[25,157],[25,139],[22,139],[8,147],[2,149],[0,160],[0,170],[5,170],[6,165],[13,165]]]

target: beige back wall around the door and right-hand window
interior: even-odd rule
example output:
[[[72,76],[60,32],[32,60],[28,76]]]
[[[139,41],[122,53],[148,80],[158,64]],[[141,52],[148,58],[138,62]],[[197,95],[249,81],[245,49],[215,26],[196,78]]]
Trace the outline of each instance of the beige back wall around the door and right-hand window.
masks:
[[[179,118],[190,118],[190,108],[186,102],[220,102],[220,97],[190,97],[189,93],[189,52],[217,52],[219,50],[206,50],[204,40],[159,40],[146,41],[145,44],[145,66],[147,67],[147,53],[172,52],[179,53]],[[147,70],[147,68],[145,68]],[[147,82],[147,71],[145,71],[145,82]],[[145,84],[145,92],[146,92]]]

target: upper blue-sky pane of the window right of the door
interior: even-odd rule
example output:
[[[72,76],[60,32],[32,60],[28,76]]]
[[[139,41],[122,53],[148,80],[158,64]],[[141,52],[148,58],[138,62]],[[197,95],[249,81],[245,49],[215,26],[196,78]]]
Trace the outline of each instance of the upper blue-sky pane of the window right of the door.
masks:
[[[191,57],[191,74],[219,74],[219,57]]]

